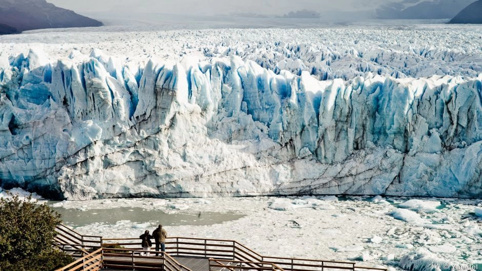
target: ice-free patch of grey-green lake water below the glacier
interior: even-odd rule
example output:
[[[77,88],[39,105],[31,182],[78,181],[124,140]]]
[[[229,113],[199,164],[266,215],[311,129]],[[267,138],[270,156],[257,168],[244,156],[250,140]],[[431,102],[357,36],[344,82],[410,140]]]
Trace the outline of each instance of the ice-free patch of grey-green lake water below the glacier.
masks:
[[[49,202],[49,205],[55,202]],[[81,227],[92,223],[115,224],[120,220],[135,222],[160,221],[163,225],[213,225],[225,221],[236,220],[245,215],[235,213],[202,212],[198,214],[176,213],[168,214],[162,211],[145,210],[139,207],[117,207],[112,209],[92,209],[80,211],[77,209],[65,209],[63,207],[52,207],[62,215],[65,224],[73,227]]]

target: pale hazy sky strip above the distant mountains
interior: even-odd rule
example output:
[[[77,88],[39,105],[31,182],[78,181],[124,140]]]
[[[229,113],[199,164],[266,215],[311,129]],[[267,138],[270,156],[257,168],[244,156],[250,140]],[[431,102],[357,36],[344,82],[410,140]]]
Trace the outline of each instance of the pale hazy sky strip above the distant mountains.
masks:
[[[156,12],[173,14],[229,14],[252,12],[284,14],[311,9],[323,14],[330,10],[348,12],[375,10],[378,6],[401,0],[47,0],[77,12]]]

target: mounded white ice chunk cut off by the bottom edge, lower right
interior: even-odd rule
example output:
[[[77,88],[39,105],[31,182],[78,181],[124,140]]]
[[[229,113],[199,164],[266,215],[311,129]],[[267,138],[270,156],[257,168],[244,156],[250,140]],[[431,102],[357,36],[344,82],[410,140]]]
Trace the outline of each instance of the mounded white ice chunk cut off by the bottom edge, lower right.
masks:
[[[412,271],[448,271],[452,263],[438,258],[425,248],[420,248],[402,257],[398,266]]]

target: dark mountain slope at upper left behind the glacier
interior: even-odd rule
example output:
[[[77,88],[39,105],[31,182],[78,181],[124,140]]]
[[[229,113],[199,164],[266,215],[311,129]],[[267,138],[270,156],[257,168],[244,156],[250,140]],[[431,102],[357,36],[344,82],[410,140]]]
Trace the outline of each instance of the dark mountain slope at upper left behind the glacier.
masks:
[[[0,25],[17,32],[43,28],[96,27],[103,24],[71,10],[58,8],[46,0],[2,0]]]

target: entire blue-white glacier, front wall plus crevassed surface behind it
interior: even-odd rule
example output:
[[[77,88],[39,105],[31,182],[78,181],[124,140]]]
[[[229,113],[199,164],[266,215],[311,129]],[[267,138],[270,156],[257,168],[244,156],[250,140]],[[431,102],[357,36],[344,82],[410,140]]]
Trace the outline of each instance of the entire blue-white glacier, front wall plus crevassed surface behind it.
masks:
[[[72,200],[478,198],[481,38],[458,26],[2,36],[0,179]]]

